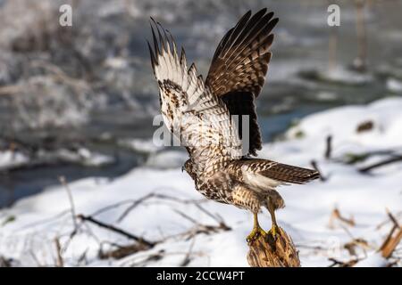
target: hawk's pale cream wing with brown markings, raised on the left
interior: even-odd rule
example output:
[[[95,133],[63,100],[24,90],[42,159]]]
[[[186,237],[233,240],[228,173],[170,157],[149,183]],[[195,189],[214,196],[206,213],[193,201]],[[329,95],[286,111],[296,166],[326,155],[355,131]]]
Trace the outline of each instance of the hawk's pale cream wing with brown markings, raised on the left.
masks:
[[[199,171],[213,166],[212,160],[239,159],[241,141],[228,108],[197,76],[194,63],[187,68],[184,50],[179,57],[169,32],[153,24],[154,49],[148,47],[165,125],[186,146]]]

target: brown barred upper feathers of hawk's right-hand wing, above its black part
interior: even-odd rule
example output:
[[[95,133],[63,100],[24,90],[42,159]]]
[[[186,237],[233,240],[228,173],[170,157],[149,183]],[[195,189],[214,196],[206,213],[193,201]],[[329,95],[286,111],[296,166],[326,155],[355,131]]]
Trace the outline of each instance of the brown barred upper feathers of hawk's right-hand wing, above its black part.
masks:
[[[271,31],[278,22],[278,18],[272,19],[272,12],[265,12],[266,9],[256,12],[251,19],[251,12],[247,12],[222,38],[205,80],[206,84],[212,87],[214,94],[223,95],[245,89],[249,89],[247,91],[251,91],[255,97],[260,93],[262,85],[259,83],[264,84],[271,58]],[[260,61],[264,64],[257,64]],[[255,72],[254,76],[248,73],[252,70]],[[245,80],[247,77],[248,80]],[[246,85],[239,85],[242,81]]]

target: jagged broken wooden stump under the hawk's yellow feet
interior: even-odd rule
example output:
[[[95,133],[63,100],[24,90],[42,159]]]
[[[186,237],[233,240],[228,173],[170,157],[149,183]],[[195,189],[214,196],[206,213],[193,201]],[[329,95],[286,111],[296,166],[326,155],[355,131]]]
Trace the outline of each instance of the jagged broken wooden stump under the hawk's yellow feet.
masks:
[[[300,267],[297,249],[289,235],[279,228],[273,240],[272,235],[258,237],[248,243],[247,262],[251,267]]]

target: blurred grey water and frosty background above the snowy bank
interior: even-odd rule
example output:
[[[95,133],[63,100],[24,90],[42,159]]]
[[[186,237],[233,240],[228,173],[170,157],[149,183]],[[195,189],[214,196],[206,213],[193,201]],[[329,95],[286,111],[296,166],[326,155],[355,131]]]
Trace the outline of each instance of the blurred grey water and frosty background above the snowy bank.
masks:
[[[72,27],[59,24],[61,4]],[[339,27],[327,24],[329,4]],[[205,75],[224,33],[262,7],[280,18],[257,101],[264,142],[310,113],[402,94],[400,0],[0,0],[0,208],[60,175],[114,178],[152,164],[150,16]]]

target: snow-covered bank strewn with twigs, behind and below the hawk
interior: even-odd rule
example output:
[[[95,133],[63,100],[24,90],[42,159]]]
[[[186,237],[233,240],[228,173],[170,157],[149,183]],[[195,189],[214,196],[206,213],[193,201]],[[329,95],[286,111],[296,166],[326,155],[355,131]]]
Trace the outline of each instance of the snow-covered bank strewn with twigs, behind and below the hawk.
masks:
[[[280,189],[287,207],[278,211],[278,222],[295,241],[302,265],[331,265],[330,257],[349,260],[354,258],[351,247],[358,258],[371,256],[392,226],[382,224],[389,220],[386,208],[400,218],[402,162],[365,173],[359,169],[402,149],[401,110],[402,98],[389,98],[324,111],[301,120],[289,130],[286,140],[264,145],[260,157],[302,167],[309,167],[314,159],[327,178]],[[332,159],[324,159],[329,134]],[[354,163],[345,163],[353,156],[358,158]],[[170,156],[162,158],[166,165]],[[0,211],[0,256],[13,258],[15,265],[55,265],[56,239],[64,265],[71,266],[247,266],[245,237],[252,216],[203,199],[180,167],[155,168],[157,161],[114,181],[87,178],[69,183],[75,214],[159,241],[155,247],[120,259],[100,258],[101,248],[105,253],[133,240],[88,221],[73,222],[68,191],[57,186]],[[335,207],[342,216],[353,216],[355,225],[338,219],[330,226]],[[261,222],[265,229],[271,226],[266,212]],[[78,232],[71,238],[74,223]],[[210,227],[205,230],[200,225]],[[205,231],[195,232],[200,228]],[[400,246],[394,254],[401,256]]]

